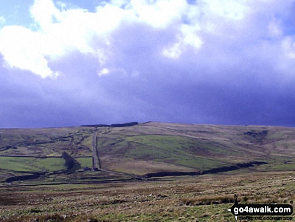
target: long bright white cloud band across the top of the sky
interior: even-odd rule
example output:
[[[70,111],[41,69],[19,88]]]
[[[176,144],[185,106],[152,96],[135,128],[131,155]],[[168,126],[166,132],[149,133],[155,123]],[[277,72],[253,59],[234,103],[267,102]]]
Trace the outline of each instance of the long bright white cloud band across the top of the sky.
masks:
[[[67,9],[62,2],[58,2],[57,8],[52,0],[35,0],[30,13],[36,31],[20,26],[5,26],[0,30],[0,53],[8,66],[31,70],[46,78],[57,76],[58,73],[49,67],[50,60],[79,51],[96,57],[98,66],[105,67],[98,73],[106,75],[110,73],[108,62],[116,53],[112,51],[112,34],[120,31],[122,24],[144,24],[155,30],[169,30],[167,33],[173,37],[170,42],[161,43],[159,54],[178,59],[188,48],[198,52],[208,44],[215,44],[214,38],[224,39],[226,44],[229,36],[231,39],[241,39],[241,34],[247,33],[247,28],[253,26],[251,22],[254,20],[251,21],[250,16],[255,14],[256,8],[265,10],[273,1],[263,1],[256,8],[251,4],[256,7],[258,3],[200,0],[196,5],[188,5],[185,0],[158,0],[152,3],[147,0],[113,0],[97,6],[96,12],[90,13],[84,9]],[[275,12],[275,9],[272,7],[269,10]],[[0,23],[3,21],[5,19],[0,17]],[[244,27],[245,24],[248,27]],[[270,20],[267,24],[265,32],[282,38],[279,20]],[[286,48],[283,44],[281,47]],[[293,48],[288,48],[286,54],[292,57]],[[109,66],[117,67],[116,64]]]

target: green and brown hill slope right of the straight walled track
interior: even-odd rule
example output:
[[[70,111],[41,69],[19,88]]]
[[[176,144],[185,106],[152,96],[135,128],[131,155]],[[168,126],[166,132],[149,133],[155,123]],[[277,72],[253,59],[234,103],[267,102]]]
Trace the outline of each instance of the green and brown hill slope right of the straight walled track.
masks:
[[[257,133],[268,130],[268,133],[256,137],[245,134],[251,130]],[[99,140],[102,159],[106,157],[105,167],[134,172],[130,167],[132,162],[133,166],[139,167],[138,171],[145,171],[146,166],[140,167],[136,163],[149,161],[150,165],[166,164],[168,171],[193,171],[254,160],[282,165],[295,156],[294,132],[293,128],[286,127],[151,122],[113,128],[101,133]]]

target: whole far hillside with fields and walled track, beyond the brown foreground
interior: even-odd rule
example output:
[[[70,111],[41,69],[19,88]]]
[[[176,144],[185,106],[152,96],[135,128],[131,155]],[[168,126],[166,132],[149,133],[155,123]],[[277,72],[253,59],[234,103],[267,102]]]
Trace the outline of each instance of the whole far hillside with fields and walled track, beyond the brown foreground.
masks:
[[[100,182],[158,172],[295,167],[294,128],[159,122],[121,126],[0,129],[0,181],[37,174],[40,182]],[[63,152],[81,170],[66,172]]]

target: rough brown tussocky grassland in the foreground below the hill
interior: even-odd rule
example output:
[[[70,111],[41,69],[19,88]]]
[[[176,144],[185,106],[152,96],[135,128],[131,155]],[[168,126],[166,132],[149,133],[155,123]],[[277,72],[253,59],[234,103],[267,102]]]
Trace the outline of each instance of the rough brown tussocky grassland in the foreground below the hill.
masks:
[[[125,183],[7,186],[0,188],[0,221],[235,221],[227,211],[234,193],[240,203],[290,203],[295,199],[294,176],[294,171],[235,172]]]

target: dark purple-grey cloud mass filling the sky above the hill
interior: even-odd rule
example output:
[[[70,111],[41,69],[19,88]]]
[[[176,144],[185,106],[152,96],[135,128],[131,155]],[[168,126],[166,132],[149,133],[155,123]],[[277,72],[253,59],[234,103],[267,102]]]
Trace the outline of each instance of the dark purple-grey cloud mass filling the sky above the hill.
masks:
[[[123,20],[91,40],[104,62],[79,50],[49,56],[55,79],[6,68],[2,57],[0,127],[150,120],[295,126],[294,3],[251,4],[242,20],[201,13],[199,48],[180,41],[183,19],[164,28]],[[163,56],[177,42],[180,55]],[[100,76],[104,68],[109,73]]]

